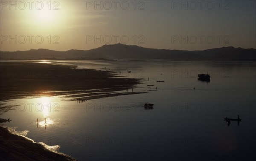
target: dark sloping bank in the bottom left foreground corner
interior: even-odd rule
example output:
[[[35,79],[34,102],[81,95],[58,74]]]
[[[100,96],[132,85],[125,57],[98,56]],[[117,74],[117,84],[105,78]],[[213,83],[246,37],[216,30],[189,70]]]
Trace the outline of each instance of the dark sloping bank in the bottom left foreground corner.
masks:
[[[3,126],[0,126],[0,151],[1,160],[6,161],[76,161],[70,155],[58,151],[50,151],[42,144],[28,140],[23,136],[12,134]]]

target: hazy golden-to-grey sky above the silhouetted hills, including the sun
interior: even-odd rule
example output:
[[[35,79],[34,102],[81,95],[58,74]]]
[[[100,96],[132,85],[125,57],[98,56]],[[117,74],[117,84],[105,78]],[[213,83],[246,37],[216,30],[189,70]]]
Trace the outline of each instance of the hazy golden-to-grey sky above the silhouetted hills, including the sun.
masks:
[[[0,50],[256,48],[255,0],[0,0]]]

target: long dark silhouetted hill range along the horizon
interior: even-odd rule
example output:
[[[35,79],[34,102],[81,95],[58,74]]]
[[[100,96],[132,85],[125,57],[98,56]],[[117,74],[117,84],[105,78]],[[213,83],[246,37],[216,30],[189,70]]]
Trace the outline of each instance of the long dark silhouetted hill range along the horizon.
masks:
[[[256,49],[222,47],[202,51],[150,49],[136,45],[103,45],[91,50],[68,50],[65,52],[48,49],[29,51],[1,52],[1,59],[169,59],[169,60],[256,60]]]

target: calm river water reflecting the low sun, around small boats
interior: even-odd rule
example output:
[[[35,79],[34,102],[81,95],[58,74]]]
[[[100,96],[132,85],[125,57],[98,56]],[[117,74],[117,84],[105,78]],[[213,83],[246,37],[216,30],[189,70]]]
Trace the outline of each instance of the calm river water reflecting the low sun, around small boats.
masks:
[[[148,93],[83,103],[67,101],[64,96],[5,101],[20,105],[0,116],[12,120],[5,125],[27,130],[26,136],[36,142],[60,145],[60,152],[86,161],[256,159],[255,62],[41,63],[76,64],[142,78],[143,84],[128,92]],[[210,82],[197,79],[207,72]],[[144,103],[154,103],[154,109],[144,109]],[[227,126],[224,117],[237,115],[242,119],[239,126],[236,121]]]

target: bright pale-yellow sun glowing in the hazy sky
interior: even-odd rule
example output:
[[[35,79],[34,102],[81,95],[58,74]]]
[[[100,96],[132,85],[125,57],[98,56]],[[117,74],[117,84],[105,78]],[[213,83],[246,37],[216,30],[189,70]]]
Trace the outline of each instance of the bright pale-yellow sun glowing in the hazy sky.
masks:
[[[38,1],[41,2],[41,1]],[[70,20],[73,20],[73,8],[70,1],[42,1],[44,5],[38,5],[26,10],[17,10],[20,14],[20,22],[23,23],[24,29],[30,33],[38,35],[56,35],[61,33],[62,29],[70,26]],[[58,3],[57,3],[58,2]],[[38,3],[39,4],[39,3]],[[58,5],[57,5],[58,4]]]

